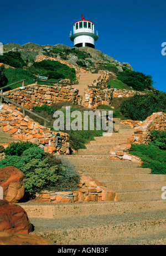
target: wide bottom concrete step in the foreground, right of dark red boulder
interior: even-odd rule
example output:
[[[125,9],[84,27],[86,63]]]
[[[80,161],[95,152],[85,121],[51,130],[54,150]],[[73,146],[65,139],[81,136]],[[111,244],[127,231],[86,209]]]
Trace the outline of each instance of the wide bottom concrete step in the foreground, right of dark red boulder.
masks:
[[[164,233],[165,211],[103,214],[61,219],[30,218],[35,230],[53,244],[105,244],[105,241]]]

